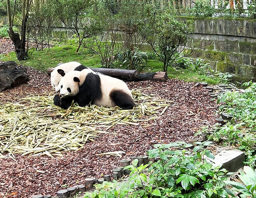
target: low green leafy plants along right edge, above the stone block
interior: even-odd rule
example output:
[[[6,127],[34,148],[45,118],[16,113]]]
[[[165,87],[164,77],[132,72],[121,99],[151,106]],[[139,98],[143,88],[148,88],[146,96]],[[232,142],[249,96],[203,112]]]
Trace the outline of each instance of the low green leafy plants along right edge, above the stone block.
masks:
[[[245,163],[255,168],[256,83],[248,82],[242,86],[246,88],[243,93],[227,91],[218,97],[219,114],[226,112],[232,119],[223,126],[214,126],[208,139],[245,150]]]

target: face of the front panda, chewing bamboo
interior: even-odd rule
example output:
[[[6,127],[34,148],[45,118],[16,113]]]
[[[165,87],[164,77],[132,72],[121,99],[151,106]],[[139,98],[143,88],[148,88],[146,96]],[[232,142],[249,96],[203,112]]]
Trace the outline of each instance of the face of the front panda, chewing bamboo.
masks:
[[[59,88],[60,96],[62,98],[73,97],[79,93],[80,80],[78,77],[74,76],[73,73],[76,73],[76,71],[66,73],[66,75],[60,80]]]

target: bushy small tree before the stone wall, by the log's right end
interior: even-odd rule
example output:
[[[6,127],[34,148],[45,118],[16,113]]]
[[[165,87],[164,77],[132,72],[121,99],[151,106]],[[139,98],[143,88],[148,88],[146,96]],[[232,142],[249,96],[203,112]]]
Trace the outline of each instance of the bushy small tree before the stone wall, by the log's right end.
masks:
[[[152,4],[145,7],[145,18],[139,24],[141,36],[150,45],[163,62],[163,71],[180,57],[189,35],[192,33],[192,21],[187,24],[177,21],[166,9],[157,9]]]

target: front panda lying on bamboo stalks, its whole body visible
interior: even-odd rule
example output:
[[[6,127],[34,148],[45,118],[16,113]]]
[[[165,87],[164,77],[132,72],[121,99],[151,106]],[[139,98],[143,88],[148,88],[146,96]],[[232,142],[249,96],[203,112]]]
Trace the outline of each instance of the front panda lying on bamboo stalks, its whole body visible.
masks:
[[[90,102],[98,106],[119,106],[132,109],[135,105],[132,94],[126,83],[106,75],[97,75],[90,69],[65,73],[58,69],[62,76],[59,82],[60,95],[54,97],[54,104],[67,109],[72,100],[79,106]]]

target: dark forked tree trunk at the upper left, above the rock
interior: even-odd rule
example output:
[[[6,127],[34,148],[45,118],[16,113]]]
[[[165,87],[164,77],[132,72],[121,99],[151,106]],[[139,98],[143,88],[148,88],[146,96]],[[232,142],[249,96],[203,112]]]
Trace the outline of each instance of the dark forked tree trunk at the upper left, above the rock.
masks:
[[[15,46],[15,53],[19,61],[28,59],[28,50],[26,50],[26,23],[28,20],[28,10],[31,0],[22,0],[22,22],[21,22],[21,37],[19,33],[13,31],[13,21],[15,15],[16,1],[13,5],[13,12],[11,13],[10,0],[6,0],[7,15],[8,15],[8,34]]]

